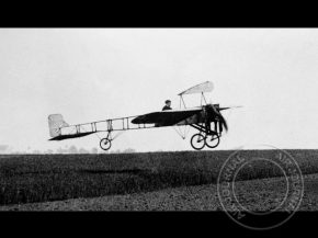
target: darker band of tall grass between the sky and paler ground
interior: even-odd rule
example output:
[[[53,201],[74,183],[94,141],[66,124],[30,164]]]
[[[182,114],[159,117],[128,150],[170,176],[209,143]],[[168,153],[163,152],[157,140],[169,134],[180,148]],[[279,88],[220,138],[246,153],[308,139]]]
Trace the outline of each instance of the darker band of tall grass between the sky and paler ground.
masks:
[[[303,174],[318,172],[318,150],[287,150]],[[0,157],[0,204],[129,194],[215,183],[230,150]],[[272,150],[243,156],[273,157]],[[272,163],[246,168],[238,180],[281,177]]]

